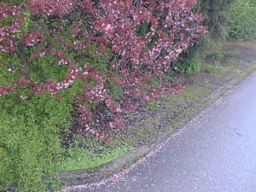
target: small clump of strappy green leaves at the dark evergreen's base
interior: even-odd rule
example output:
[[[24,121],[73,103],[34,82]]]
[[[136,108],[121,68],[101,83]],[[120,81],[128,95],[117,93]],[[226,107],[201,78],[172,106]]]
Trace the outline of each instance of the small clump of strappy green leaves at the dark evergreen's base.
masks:
[[[201,60],[191,59],[188,61],[179,62],[177,64],[177,71],[184,74],[198,73],[201,71]]]

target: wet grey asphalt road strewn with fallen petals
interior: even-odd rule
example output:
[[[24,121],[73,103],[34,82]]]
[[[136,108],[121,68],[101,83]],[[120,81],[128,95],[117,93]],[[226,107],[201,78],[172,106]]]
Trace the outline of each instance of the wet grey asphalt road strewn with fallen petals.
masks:
[[[116,183],[79,192],[256,192],[256,74]]]

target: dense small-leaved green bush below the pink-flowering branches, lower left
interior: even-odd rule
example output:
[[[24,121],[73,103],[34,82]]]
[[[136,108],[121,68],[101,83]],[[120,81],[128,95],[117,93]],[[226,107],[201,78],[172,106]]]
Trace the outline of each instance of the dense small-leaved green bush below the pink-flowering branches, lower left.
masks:
[[[57,127],[70,124],[72,106],[49,95],[22,94],[27,90],[0,97],[0,189],[45,192],[57,179],[63,153]]]

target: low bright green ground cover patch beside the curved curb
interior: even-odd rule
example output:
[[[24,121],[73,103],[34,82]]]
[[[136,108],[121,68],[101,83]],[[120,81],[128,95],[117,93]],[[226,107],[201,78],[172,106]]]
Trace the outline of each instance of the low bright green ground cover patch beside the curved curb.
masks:
[[[131,144],[115,137],[110,143],[102,143],[95,137],[75,137],[75,142],[65,151],[65,160],[59,164],[60,171],[96,169],[98,166],[119,158],[131,150]]]

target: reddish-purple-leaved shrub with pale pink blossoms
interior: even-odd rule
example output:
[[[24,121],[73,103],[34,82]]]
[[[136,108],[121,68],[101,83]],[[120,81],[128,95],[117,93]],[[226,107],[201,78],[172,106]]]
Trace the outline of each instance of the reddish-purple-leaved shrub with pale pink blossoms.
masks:
[[[59,98],[79,81],[84,92],[73,94],[69,102],[80,113],[81,132],[101,138],[101,127],[115,125],[114,116],[134,108],[130,105],[135,98],[157,98],[162,88],[148,86],[148,80],[163,75],[189,44],[207,33],[201,15],[191,10],[195,1],[61,0],[58,9],[50,6],[51,0],[40,2],[28,1],[23,9],[3,4],[3,19],[14,20],[3,25],[0,49],[6,55],[16,53],[22,65],[9,62],[10,70],[26,75],[15,85],[1,87],[0,94],[26,84],[36,95],[49,92]],[[120,99],[122,106],[114,101]],[[92,118],[91,110],[98,105],[112,111],[113,122],[96,123],[101,120]]]

